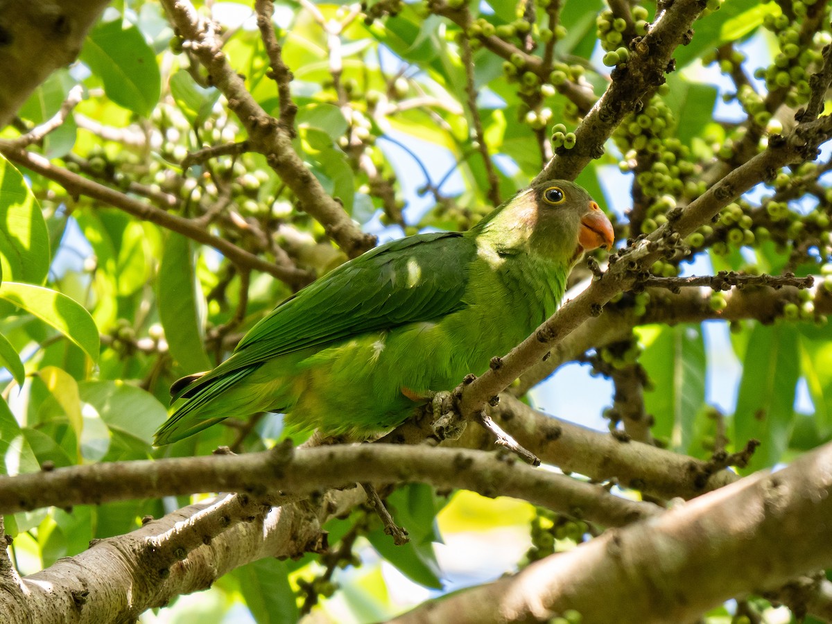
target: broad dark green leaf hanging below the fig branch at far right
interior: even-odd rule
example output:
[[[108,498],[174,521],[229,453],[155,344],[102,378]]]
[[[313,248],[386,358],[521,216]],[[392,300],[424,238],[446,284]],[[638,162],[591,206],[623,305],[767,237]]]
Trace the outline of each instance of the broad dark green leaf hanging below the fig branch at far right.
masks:
[[[756,438],[762,443],[751,458],[752,472],[780,461],[795,419],[795,385],[800,378],[800,349],[794,324],[755,324],[743,361],[734,414],[735,448]]]

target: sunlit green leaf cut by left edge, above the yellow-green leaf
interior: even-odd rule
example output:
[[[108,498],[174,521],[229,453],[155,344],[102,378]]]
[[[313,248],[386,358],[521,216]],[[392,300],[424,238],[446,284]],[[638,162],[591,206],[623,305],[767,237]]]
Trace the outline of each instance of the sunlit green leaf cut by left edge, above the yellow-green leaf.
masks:
[[[0,279],[42,284],[49,270],[49,234],[20,171],[0,155]]]

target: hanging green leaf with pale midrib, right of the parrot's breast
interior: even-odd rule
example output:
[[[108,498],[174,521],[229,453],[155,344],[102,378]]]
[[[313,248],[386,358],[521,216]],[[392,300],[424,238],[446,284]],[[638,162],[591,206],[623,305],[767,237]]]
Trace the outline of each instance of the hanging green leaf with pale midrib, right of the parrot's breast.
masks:
[[[641,365],[654,389],[644,394],[644,407],[653,414],[653,432],[670,440],[679,453],[689,453],[696,414],[705,404],[705,343],[698,325],[636,328],[646,344]]]

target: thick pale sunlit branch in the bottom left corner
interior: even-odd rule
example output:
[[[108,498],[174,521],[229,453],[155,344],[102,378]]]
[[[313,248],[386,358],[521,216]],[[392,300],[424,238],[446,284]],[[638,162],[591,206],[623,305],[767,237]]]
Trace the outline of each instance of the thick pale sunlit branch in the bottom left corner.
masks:
[[[321,551],[326,547],[321,525],[364,502],[364,493],[360,488],[330,492],[316,507],[297,503],[254,513],[215,536],[206,535],[202,522],[191,522],[205,513],[222,522],[236,498],[182,508],[134,532],[99,540],[76,557],[64,557],[24,577],[22,597],[0,592],[0,613],[7,622],[134,622],[141,612],[204,590],[245,563]],[[176,542],[196,548],[171,548]],[[168,553],[164,559],[162,546]]]

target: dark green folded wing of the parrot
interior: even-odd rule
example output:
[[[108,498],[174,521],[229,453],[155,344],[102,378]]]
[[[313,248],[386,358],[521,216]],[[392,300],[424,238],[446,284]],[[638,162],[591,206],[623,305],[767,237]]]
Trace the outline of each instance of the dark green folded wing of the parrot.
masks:
[[[181,389],[176,398],[280,355],[460,310],[474,255],[473,238],[458,232],[381,245],[278,305],[250,329],[229,359]]]

